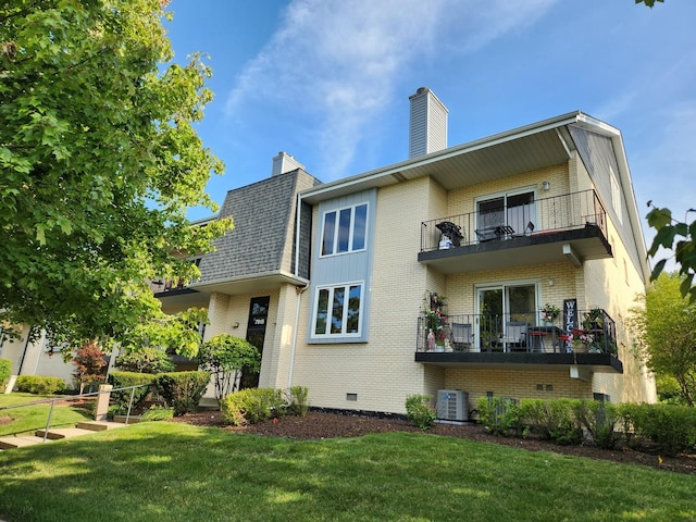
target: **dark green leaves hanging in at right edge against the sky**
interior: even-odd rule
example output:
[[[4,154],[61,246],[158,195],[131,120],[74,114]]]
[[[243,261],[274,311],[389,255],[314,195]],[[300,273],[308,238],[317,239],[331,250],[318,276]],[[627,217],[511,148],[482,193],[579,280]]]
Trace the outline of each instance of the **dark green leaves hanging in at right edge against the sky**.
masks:
[[[696,221],[687,225],[686,215],[696,212],[696,209],[688,209],[684,215],[684,223],[672,217],[670,209],[658,209],[648,201],[651,208],[647,214],[648,225],[657,231],[652,245],[648,250],[648,256],[655,258],[660,247],[674,250],[674,260],[680,265],[679,274],[682,276],[680,291],[682,297],[691,296],[691,302],[696,301],[696,287],[693,286],[696,274]],[[683,239],[679,239],[679,238]],[[676,243],[675,243],[676,241]],[[657,262],[650,275],[651,281],[656,281],[664,270],[667,259]]]

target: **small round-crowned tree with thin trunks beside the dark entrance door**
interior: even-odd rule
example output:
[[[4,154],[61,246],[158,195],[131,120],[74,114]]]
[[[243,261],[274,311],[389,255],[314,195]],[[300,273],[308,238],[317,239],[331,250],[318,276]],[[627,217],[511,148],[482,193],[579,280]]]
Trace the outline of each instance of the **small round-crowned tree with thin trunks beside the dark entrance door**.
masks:
[[[240,370],[259,371],[261,355],[256,346],[243,338],[220,334],[201,345],[198,363],[213,376],[215,398],[220,401],[234,389]]]

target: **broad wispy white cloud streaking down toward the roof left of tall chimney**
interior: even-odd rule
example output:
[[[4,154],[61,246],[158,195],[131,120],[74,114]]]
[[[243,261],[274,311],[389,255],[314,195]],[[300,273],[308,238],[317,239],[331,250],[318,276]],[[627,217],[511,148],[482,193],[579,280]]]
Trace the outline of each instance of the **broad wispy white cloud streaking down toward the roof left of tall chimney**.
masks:
[[[478,50],[533,24],[555,1],[294,0],[238,76],[228,113],[244,103],[318,120],[322,164],[313,166],[325,181],[346,175],[362,130],[390,103],[409,67],[443,52]]]

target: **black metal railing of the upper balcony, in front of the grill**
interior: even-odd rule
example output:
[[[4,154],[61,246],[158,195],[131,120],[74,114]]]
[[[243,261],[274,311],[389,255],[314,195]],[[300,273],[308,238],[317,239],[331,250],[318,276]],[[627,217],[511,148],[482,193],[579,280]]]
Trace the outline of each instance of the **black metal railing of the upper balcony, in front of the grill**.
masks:
[[[596,225],[607,237],[607,212],[594,190],[538,199],[492,212],[448,215],[421,223],[421,251],[463,247]]]

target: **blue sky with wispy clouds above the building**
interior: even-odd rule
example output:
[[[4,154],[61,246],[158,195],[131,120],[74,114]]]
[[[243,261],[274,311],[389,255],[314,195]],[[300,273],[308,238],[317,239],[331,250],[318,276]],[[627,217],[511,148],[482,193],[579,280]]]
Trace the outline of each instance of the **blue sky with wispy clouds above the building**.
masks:
[[[208,186],[219,203],[268,177],[281,150],[324,182],[407,159],[408,98],[430,87],[449,109],[449,146],[582,110],[621,129],[641,215],[647,200],[680,219],[696,207],[696,1],[174,0],[170,10],[175,60],[210,54],[215,99],[198,132],[226,164]]]

